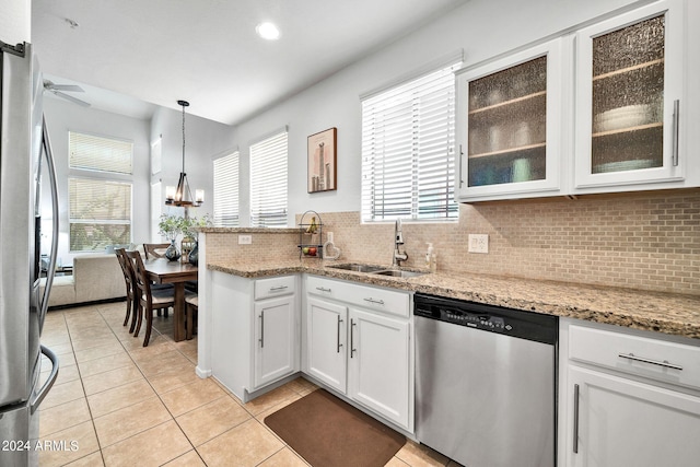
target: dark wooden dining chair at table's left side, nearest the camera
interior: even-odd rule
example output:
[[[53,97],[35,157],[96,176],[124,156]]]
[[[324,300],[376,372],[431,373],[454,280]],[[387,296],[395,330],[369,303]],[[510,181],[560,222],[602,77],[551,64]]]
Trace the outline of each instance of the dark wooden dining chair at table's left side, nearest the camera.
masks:
[[[152,290],[151,281],[143,266],[143,259],[138,252],[126,252],[127,257],[133,265],[135,282],[137,285],[136,296],[139,304],[137,313],[137,324],[133,337],[139,337],[141,324],[145,319],[145,335],[143,336],[143,347],[148,347],[151,339],[151,330],[153,329],[153,310],[166,310],[175,306],[175,295],[173,290]]]

